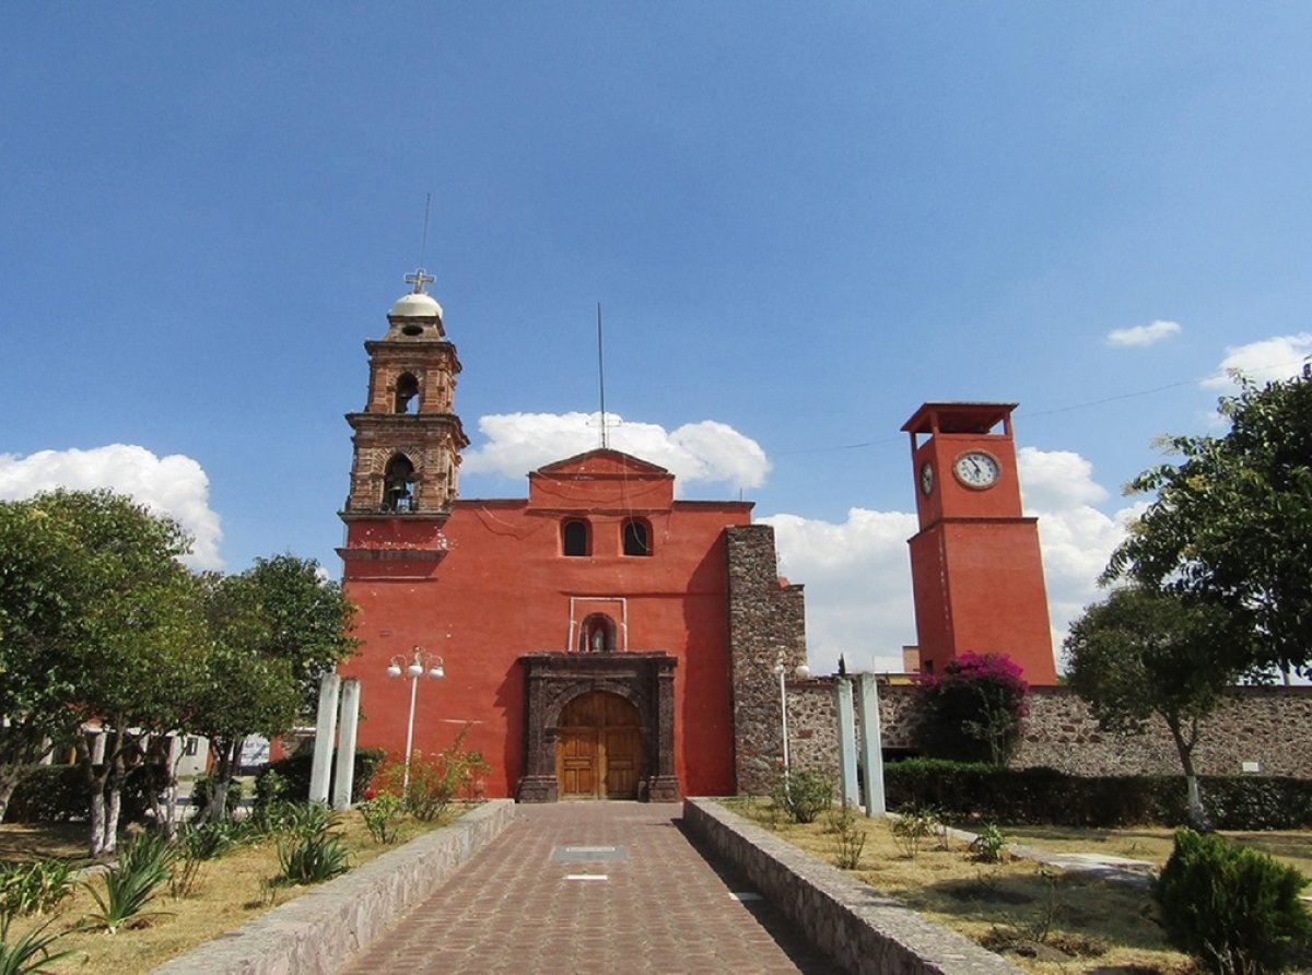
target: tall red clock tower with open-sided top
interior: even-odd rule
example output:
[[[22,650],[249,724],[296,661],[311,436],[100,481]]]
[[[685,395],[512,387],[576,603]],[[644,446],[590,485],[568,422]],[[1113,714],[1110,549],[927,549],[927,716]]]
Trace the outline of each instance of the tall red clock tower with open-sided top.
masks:
[[[921,667],[1004,653],[1056,684],[1038,518],[1021,509],[1015,403],[925,403],[911,434],[920,531],[911,539]]]

